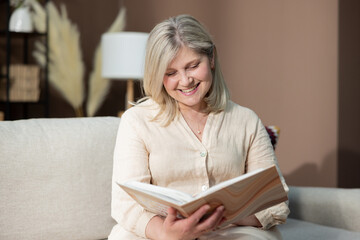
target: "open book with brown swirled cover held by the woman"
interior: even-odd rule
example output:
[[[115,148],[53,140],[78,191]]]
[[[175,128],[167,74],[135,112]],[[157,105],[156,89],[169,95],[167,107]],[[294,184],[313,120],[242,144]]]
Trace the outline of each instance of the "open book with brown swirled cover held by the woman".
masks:
[[[224,181],[195,196],[136,181],[119,185],[145,209],[161,216],[167,215],[170,206],[188,217],[204,204],[211,206],[208,214],[224,205],[227,220],[223,226],[288,199],[275,165]]]

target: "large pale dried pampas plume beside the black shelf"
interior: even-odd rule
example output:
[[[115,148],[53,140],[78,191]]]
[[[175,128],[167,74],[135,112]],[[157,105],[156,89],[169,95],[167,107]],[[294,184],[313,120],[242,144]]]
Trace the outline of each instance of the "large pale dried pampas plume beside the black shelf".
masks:
[[[35,28],[44,29],[45,10],[36,1],[31,5],[35,10]],[[52,2],[46,6],[49,14],[49,81],[74,108],[76,116],[83,116],[84,63],[80,48],[80,33],[67,15],[65,6],[60,6],[61,14]],[[38,15],[37,15],[38,13]],[[45,44],[36,42],[33,55],[41,66],[45,66]]]

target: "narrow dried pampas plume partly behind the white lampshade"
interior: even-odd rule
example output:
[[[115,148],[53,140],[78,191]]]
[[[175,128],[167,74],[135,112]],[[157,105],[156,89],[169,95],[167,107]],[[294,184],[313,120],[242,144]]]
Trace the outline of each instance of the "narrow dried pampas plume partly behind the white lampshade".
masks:
[[[114,23],[110,26],[107,32],[120,32],[125,28],[126,11],[122,8],[117,15]],[[102,48],[99,44],[95,50],[94,67],[89,79],[89,92],[86,105],[86,112],[88,116],[94,116],[100,105],[103,103],[105,96],[110,89],[109,79],[104,79],[101,76],[102,71]]]

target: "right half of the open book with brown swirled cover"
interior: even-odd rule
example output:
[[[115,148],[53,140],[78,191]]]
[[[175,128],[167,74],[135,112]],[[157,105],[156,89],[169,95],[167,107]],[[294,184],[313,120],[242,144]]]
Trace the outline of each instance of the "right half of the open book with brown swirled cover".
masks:
[[[220,183],[181,208],[188,216],[204,204],[210,205],[209,214],[223,205],[225,226],[287,199],[276,166],[272,165]]]

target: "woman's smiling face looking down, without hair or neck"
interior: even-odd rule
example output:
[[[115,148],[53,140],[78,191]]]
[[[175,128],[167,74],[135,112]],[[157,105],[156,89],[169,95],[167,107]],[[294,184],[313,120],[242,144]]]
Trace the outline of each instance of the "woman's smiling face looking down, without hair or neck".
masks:
[[[163,84],[166,92],[178,103],[180,110],[206,108],[204,97],[213,77],[213,61],[188,47],[182,47],[166,69]]]

